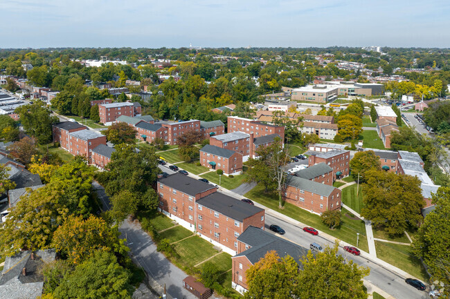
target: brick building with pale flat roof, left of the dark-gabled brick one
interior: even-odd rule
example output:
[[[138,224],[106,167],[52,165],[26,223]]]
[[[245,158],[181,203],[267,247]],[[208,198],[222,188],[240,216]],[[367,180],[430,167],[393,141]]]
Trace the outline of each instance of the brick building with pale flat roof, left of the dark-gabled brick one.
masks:
[[[84,155],[91,162],[93,148],[106,144],[106,136],[92,130],[81,130],[69,133],[69,153]]]

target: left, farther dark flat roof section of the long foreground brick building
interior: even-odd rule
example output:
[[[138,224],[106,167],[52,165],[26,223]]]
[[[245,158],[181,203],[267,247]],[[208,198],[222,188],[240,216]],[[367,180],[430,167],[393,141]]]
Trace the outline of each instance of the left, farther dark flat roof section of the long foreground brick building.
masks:
[[[195,196],[198,193],[205,192],[210,189],[217,189],[213,185],[195,180],[194,178],[182,175],[181,173],[174,173],[168,177],[163,177],[159,179],[158,182],[191,196]]]

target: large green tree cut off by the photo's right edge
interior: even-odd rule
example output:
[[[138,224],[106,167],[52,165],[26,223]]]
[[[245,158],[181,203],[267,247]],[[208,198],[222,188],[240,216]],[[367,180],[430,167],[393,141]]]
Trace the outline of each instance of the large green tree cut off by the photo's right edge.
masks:
[[[434,211],[425,217],[420,226],[417,238],[413,241],[413,251],[421,258],[431,272],[432,280],[450,285],[450,188],[440,187],[433,194]],[[445,287],[444,295],[449,296],[450,290]]]

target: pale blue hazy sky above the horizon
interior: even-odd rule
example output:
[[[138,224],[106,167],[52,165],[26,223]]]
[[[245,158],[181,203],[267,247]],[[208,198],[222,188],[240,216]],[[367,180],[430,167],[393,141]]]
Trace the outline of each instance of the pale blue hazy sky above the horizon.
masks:
[[[0,0],[0,48],[450,48],[449,0]]]

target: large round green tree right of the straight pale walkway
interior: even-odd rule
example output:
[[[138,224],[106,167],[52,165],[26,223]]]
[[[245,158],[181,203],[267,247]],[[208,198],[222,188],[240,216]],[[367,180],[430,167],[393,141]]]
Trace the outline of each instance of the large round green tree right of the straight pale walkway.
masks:
[[[361,216],[390,235],[401,235],[420,223],[425,202],[417,177],[372,169],[366,171],[362,190]]]

